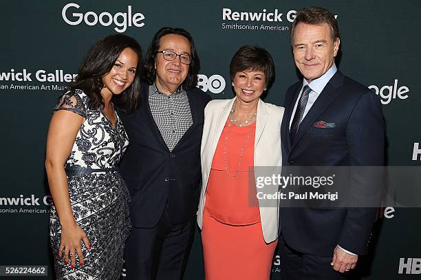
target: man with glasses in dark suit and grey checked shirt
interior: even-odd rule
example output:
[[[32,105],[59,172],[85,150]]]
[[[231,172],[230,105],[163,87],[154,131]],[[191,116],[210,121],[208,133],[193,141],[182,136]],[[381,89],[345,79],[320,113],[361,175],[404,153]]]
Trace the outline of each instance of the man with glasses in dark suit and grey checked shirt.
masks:
[[[127,279],[182,279],[199,201],[200,143],[210,97],[196,88],[199,58],[186,30],[159,30],[146,54],[140,106],[121,119],[120,165],[131,194]]]

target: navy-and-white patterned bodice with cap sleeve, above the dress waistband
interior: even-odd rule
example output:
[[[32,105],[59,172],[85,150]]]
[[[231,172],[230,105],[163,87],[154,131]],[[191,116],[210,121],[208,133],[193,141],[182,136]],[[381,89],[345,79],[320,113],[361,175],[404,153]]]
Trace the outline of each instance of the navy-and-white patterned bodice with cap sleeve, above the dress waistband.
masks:
[[[129,145],[127,133],[116,113],[116,127],[105,116],[102,109],[89,108],[88,97],[76,89],[63,95],[54,110],[71,110],[85,118],[78,130],[72,152],[65,168],[88,167],[102,169],[118,167]]]

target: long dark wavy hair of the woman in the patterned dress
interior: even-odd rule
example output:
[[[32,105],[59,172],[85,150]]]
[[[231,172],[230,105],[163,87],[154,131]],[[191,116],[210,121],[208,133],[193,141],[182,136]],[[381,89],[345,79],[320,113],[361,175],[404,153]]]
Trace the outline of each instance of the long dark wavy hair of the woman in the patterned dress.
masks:
[[[138,65],[133,83],[117,98],[122,110],[133,110],[140,102],[140,67],[142,67],[142,48],[139,43],[124,34],[111,34],[98,40],[87,52],[79,67],[76,81],[69,85],[71,90],[81,89],[89,97],[89,107],[103,106],[101,90],[102,77],[107,75],[121,52],[129,48],[138,55]],[[114,101],[114,100],[113,100]],[[120,104],[118,104],[120,106]]]

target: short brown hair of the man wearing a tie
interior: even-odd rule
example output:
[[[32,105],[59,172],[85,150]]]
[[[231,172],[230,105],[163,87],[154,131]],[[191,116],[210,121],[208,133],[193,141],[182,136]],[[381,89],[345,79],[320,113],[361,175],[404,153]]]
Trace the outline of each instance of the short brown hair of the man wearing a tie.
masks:
[[[323,25],[323,23],[327,23],[330,27],[332,41],[335,41],[336,38],[340,38],[338,21],[336,21],[335,16],[325,8],[310,6],[303,10],[299,10],[299,12],[296,13],[296,17],[291,26],[291,45],[294,45],[294,31],[296,25],[299,23],[307,23],[310,25]]]

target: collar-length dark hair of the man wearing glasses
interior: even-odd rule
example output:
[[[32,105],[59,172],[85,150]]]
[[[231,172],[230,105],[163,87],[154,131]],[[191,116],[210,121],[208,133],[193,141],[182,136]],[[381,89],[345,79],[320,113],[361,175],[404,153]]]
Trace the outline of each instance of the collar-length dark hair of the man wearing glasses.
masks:
[[[153,82],[155,82],[155,58],[157,51],[160,49],[160,40],[163,36],[169,34],[184,36],[190,43],[191,63],[188,67],[187,77],[182,82],[182,86],[184,88],[193,89],[197,85],[197,74],[199,73],[200,61],[199,56],[197,55],[197,49],[195,47],[193,37],[190,33],[188,33],[182,28],[162,27],[160,30],[158,30],[158,32],[155,33],[151,45],[149,45],[147,53],[145,54],[144,71],[142,72],[142,79],[148,82],[148,84],[153,84]]]

